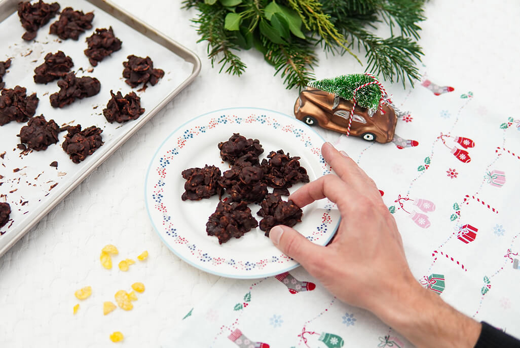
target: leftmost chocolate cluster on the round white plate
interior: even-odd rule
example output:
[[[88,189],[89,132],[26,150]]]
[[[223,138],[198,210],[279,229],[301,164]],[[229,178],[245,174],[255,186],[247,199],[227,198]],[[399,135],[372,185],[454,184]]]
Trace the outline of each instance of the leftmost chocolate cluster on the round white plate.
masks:
[[[218,195],[222,197],[223,189],[218,184],[220,169],[214,165],[205,165],[204,168],[190,168],[184,170],[181,175],[186,179],[184,189],[186,190],[181,198],[183,201],[198,201],[202,198],[210,198]]]

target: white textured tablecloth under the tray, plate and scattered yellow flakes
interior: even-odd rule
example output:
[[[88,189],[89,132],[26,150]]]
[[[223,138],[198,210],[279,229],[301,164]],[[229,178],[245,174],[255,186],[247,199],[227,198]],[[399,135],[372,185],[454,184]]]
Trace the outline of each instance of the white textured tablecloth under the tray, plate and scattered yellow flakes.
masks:
[[[168,0],[154,0],[153,6],[136,0],[115,3],[195,51],[202,71],[0,258],[2,347],[113,346],[108,335],[117,330],[125,334],[124,346],[157,346],[161,335],[211,295],[207,291],[218,277],[185,264],[155,234],[144,202],[145,174],[154,151],[177,126],[207,111],[252,106],[292,114],[297,92],[272,77],[274,70],[255,51],[241,53],[248,65],[241,78],[211,68],[206,44],[196,44],[199,37],[191,27],[194,10],[181,10],[179,1]],[[518,2],[490,6],[483,0],[436,0],[426,4],[426,17],[420,44],[427,68],[422,71],[427,69],[439,83],[488,95],[489,109],[497,113],[512,113],[520,91]],[[318,78],[362,71],[348,56],[319,57]],[[320,132],[331,141],[339,136]],[[119,248],[117,261],[135,259],[143,250],[150,256],[129,272],[120,272],[116,262],[106,271],[99,265],[99,253],[108,243]],[[103,316],[102,302],[113,301],[117,290],[129,289],[135,281],[147,289],[134,310]],[[79,302],[74,291],[86,285],[93,287],[93,295],[73,316],[72,307]]]

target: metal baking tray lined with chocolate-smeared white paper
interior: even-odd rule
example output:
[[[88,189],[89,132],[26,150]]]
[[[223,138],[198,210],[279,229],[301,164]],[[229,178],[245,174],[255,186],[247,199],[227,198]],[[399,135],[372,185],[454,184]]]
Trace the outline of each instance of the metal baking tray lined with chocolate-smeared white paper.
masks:
[[[35,115],[43,114],[46,120],[54,119],[60,126],[81,124],[84,128],[91,125],[100,127],[105,144],[85,161],[75,164],[61,149],[66,133],[60,133],[60,141],[45,151],[22,153],[17,149],[20,141],[16,135],[25,124],[10,122],[0,126],[0,202],[7,201],[11,206],[11,220],[0,228],[0,255],[190,84],[201,69],[199,57],[191,50],[103,0],[58,0],[60,10],[72,7],[85,13],[94,11],[93,28],[80,35],[78,41],[62,41],[57,36],[48,34],[50,24],[59,18],[57,15],[38,30],[35,41],[24,42],[21,38],[24,29],[16,14],[18,2],[19,0],[0,1],[0,61],[7,58],[12,60],[11,67],[4,75],[5,88],[20,85],[27,88],[28,95],[36,92],[40,102]],[[86,49],[85,38],[92,35],[97,28],[110,26],[115,36],[122,40],[122,49],[99,62],[92,71],[83,53]],[[76,100],[63,109],[53,109],[50,106],[49,95],[58,92],[59,87],[56,82],[35,84],[33,70],[43,63],[47,53],[56,53],[58,50],[73,59],[72,70],[78,76],[93,76],[100,80],[101,91],[98,95]],[[165,71],[157,85],[138,92],[139,87],[131,88],[125,84],[122,78],[122,62],[130,54],[150,56],[154,68]],[[108,123],[102,110],[110,99],[111,89],[114,93],[121,91],[123,95],[136,92],[141,98],[141,106],[146,109],[145,113],[137,120],[124,124]],[[57,168],[49,166],[53,161],[58,162]]]

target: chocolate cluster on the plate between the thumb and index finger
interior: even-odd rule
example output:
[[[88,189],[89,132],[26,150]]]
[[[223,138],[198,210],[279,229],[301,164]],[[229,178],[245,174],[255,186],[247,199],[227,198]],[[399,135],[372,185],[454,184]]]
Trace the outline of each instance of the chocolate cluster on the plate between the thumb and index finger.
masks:
[[[265,231],[266,237],[273,226],[292,227],[302,221],[302,210],[292,200],[286,202],[279,195],[267,195],[260,206],[262,208],[256,214],[263,217],[260,229]]]

